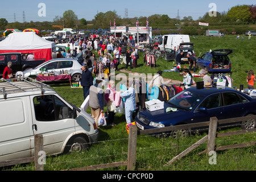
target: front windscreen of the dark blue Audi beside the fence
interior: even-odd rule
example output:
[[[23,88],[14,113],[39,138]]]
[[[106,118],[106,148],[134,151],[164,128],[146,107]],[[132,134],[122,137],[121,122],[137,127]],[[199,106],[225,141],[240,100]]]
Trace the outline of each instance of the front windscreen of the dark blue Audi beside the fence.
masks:
[[[188,90],[183,90],[182,92],[176,94],[172,97],[168,104],[171,107],[177,107],[178,109],[183,109],[187,111],[193,110],[205,96],[199,93],[191,92]]]

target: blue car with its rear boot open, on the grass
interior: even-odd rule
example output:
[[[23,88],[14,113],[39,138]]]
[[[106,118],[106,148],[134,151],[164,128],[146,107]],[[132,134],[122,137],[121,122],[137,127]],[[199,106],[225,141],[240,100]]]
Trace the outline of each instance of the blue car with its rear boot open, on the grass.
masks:
[[[231,61],[228,55],[232,52],[232,49],[217,49],[204,53],[203,56],[197,59],[196,67],[213,73],[231,72]]]

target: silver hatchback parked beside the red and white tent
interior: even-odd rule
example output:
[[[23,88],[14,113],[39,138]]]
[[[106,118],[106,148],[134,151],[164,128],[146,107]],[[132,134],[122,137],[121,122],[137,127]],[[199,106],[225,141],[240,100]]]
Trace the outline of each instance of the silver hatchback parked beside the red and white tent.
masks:
[[[36,77],[39,73],[55,73],[59,75],[67,71],[71,74],[73,81],[80,81],[82,77],[82,65],[77,59],[60,58],[46,61],[35,68],[27,69],[23,72],[24,77]]]

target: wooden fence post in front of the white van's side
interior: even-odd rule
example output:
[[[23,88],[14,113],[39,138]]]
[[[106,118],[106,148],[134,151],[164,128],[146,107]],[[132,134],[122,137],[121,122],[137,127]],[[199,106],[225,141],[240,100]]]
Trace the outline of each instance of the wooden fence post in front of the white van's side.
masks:
[[[36,171],[44,171],[44,164],[39,162],[39,151],[43,151],[43,135],[35,135],[34,136],[34,144],[35,144],[35,170]]]

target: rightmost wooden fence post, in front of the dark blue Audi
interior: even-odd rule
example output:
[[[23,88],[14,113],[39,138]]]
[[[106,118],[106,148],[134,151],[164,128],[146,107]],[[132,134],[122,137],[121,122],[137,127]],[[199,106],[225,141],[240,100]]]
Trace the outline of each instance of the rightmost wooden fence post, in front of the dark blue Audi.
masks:
[[[218,125],[218,119],[216,117],[210,118],[208,141],[207,141],[207,154],[209,154],[210,151],[214,151],[217,125]]]

